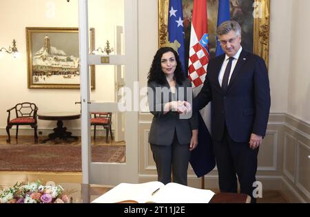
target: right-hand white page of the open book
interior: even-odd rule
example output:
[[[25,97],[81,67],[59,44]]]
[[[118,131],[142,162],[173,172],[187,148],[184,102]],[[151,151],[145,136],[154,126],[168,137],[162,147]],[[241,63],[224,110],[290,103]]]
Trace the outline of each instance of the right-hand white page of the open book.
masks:
[[[154,194],[152,201],[162,203],[207,203],[214,196],[207,189],[196,189],[170,182]]]

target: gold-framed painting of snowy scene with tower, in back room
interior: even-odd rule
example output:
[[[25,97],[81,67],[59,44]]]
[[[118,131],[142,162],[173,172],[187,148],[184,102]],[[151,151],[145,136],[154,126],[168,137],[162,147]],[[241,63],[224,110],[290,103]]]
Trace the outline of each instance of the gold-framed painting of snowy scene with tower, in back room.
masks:
[[[78,89],[80,87],[79,28],[27,27],[28,88]],[[94,28],[90,28],[94,50]],[[95,88],[95,67],[90,66]]]

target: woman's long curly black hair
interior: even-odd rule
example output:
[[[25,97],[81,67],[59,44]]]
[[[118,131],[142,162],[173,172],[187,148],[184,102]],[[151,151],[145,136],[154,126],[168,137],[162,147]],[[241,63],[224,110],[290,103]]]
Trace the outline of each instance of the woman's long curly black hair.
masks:
[[[185,73],[183,72],[180,58],[178,57],[178,53],[176,53],[176,50],[170,47],[163,47],[157,50],[156,54],[154,55],[152,66],[149,69],[149,74],[147,75],[147,84],[149,84],[150,82],[165,84],[166,76],[165,73],[163,73],[163,70],[161,70],[161,57],[163,57],[164,53],[167,53],[169,51],[174,53],[174,57],[176,57],[177,65],[176,70],[174,70],[174,79],[179,85],[183,84],[183,81],[185,80]]]

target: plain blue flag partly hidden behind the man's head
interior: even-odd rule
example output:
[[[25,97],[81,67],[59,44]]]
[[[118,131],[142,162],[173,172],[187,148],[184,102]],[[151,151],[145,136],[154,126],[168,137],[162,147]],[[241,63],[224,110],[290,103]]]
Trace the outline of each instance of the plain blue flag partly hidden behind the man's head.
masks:
[[[227,20],[230,20],[229,0],[220,0],[218,1],[218,26]],[[220,46],[220,41],[216,40],[216,57],[223,54],[224,51]]]

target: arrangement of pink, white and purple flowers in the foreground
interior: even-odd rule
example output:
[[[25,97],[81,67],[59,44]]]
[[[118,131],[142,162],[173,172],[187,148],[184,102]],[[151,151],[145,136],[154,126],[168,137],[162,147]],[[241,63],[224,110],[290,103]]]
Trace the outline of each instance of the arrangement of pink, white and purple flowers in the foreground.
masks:
[[[0,190],[0,203],[68,203],[67,194],[60,185],[50,182],[17,182],[13,187]]]

